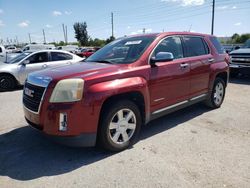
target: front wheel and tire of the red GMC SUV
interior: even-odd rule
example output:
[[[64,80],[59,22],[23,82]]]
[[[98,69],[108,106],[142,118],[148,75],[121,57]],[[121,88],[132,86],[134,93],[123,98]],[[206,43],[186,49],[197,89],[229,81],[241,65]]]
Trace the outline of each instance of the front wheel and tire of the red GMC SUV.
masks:
[[[109,151],[127,149],[135,143],[141,124],[141,113],[133,102],[122,100],[113,103],[102,114],[98,142]]]

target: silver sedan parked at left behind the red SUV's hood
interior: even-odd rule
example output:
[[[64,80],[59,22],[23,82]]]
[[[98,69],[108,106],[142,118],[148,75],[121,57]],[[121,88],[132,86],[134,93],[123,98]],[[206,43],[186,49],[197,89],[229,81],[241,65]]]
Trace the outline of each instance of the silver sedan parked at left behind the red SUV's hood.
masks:
[[[81,60],[81,57],[61,50],[21,53],[9,62],[0,63],[0,91],[23,85],[27,75],[31,72],[70,65]]]

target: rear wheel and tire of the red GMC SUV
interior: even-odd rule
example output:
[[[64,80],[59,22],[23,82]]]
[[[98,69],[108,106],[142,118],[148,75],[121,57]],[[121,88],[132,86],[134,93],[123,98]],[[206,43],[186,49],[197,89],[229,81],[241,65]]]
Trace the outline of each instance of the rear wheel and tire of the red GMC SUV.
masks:
[[[210,92],[206,105],[216,109],[221,106],[225,97],[226,84],[223,79],[217,77],[214,81],[213,90]]]

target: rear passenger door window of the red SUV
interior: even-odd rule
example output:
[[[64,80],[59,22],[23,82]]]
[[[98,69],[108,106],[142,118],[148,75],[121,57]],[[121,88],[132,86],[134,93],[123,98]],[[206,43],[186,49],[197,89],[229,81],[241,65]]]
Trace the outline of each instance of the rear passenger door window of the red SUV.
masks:
[[[193,57],[209,53],[206,43],[200,37],[183,37],[185,56]]]

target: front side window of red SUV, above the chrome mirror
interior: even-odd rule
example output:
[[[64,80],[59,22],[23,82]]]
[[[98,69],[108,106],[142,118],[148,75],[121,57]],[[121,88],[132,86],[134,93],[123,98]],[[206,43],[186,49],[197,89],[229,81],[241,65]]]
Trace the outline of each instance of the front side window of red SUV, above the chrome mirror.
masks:
[[[155,49],[153,56],[159,52],[171,52],[174,59],[183,58],[181,39],[179,37],[168,37],[164,39]]]

